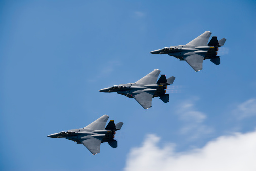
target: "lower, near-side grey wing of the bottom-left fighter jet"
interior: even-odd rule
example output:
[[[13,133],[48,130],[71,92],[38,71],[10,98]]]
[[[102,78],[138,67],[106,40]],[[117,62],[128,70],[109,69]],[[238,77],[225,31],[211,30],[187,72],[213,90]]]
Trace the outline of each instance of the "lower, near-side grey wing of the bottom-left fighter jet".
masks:
[[[100,145],[101,145],[101,140],[91,137],[88,139],[85,139],[81,141],[81,143],[86,146],[86,148],[93,154],[98,154],[100,152]]]

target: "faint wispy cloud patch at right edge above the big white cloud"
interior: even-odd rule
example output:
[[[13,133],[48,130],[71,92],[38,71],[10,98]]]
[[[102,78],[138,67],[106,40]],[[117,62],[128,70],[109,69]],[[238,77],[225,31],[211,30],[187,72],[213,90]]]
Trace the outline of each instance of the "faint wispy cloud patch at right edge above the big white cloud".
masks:
[[[238,119],[256,116],[256,99],[252,98],[239,104],[233,112],[238,116]]]

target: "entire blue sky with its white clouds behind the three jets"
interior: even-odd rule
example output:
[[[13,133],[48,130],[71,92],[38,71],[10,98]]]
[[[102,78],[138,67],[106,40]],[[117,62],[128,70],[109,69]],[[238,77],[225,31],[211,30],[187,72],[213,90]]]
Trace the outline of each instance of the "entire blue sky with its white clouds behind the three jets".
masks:
[[[0,170],[256,170],[255,1],[1,1]],[[226,38],[203,70],[149,52]],[[144,110],[98,90],[166,77]],[[107,114],[118,148],[48,138]]]

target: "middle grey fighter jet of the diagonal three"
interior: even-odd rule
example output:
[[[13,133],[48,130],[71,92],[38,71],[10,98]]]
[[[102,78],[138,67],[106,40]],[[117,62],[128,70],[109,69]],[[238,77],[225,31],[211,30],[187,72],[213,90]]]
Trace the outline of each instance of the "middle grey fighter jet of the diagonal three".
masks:
[[[173,84],[175,77],[166,79],[165,75],[161,75],[157,81],[160,72],[160,70],[155,69],[135,83],[114,85],[99,91],[105,93],[117,92],[128,98],[134,98],[144,109],[148,109],[152,107],[151,103],[154,97],[159,97],[165,103],[169,102],[169,95],[165,93],[167,85]]]

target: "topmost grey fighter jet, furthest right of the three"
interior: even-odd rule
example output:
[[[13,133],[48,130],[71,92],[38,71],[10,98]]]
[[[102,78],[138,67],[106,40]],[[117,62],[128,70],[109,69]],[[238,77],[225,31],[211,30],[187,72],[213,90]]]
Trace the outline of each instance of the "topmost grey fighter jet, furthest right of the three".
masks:
[[[181,61],[186,61],[195,71],[203,69],[203,60],[210,59],[215,65],[221,64],[220,56],[217,56],[218,47],[224,45],[226,39],[217,40],[212,37],[207,44],[211,32],[206,31],[188,44],[164,47],[151,51],[151,54],[168,54]]]

